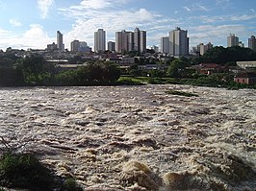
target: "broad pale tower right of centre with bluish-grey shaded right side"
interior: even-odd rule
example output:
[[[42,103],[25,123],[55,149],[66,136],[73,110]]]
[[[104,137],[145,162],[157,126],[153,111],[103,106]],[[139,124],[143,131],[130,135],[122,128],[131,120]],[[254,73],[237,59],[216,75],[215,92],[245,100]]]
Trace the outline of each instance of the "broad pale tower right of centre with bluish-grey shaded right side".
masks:
[[[188,31],[177,27],[169,32],[169,54],[172,57],[181,57],[189,55],[189,37]]]

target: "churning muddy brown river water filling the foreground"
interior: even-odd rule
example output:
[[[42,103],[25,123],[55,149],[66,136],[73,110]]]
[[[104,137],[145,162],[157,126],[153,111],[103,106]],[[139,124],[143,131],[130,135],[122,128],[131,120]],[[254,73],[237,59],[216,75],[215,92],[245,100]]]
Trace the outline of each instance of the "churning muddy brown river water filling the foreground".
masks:
[[[256,90],[0,88],[0,109],[13,148],[88,190],[256,190]]]

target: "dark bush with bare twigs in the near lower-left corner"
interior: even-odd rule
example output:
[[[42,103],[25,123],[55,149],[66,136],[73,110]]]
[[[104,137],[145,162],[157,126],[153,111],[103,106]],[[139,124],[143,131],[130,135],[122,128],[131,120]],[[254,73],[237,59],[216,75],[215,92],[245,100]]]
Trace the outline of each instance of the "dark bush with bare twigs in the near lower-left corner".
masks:
[[[33,191],[82,191],[75,179],[54,174],[32,151],[20,151],[26,143],[13,146],[1,136],[0,186]],[[0,188],[1,191],[7,189]]]

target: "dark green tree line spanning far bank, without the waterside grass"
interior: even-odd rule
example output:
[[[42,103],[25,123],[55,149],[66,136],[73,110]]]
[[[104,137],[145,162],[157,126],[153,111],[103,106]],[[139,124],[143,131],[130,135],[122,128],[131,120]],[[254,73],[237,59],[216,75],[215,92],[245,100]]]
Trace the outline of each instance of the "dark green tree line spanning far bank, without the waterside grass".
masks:
[[[256,52],[239,46],[224,48],[214,47],[203,56],[191,59],[170,58],[166,61],[156,59],[136,60],[128,70],[109,61],[91,61],[86,66],[74,70],[60,71],[54,64],[48,63],[39,55],[18,58],[12,52],[0,53],[0,85],[107,85],[116,84],[121,74],[152,78],[200,78],[188,68],[199,63],[219,63],[236,66],[239,60],[256,60]],[[82,58],[74,58],[77,63],[85,62]],[[138,65],[156,63],[165,65],[161,70],[143,70]],[[232,75],[231,75],[232,76]],[[232,79],[232,77],[228,77]],[[207,79],[209,80],[209,79]],[[213,80],[214,81],[214,80]]]

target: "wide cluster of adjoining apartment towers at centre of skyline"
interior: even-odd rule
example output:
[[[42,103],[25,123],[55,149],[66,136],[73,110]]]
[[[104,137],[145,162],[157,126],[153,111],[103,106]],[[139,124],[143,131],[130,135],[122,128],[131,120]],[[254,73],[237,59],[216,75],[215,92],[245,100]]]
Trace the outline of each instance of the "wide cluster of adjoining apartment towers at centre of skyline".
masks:
[[[126,32],[125,30],[115,33],[115,51],[121,53],[123,51],[138,51],[144,53],[146,51],[146,32],[140,31],[139,28],[135,32]]]

